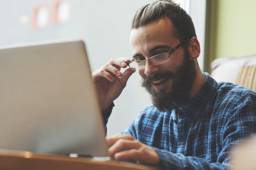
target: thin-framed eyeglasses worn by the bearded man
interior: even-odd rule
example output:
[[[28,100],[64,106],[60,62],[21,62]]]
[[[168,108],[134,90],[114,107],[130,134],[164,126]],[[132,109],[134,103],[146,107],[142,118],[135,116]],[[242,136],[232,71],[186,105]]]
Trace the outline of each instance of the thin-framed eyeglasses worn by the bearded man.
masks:
[[[190,38],[184,40],[179,45],[174,47],[171,51],[163,52],[163,53],[154,55],[154,56],[150,57],[149,59],[143,59],[143,60],[140,60],[140,59],[139,60],[134,60],[133,59],[132,61],[128,62],[127,65],[129,66],[129,68],[133,67],[133,68],[137,68],[137,69],[142,69],[142,68],[145,67],[145,64],[146,64],[147,60],[149,60],[152,65],[159,65],[159,64],[165,63],[169,60],[169,56],[171,55],[171,53],[173,53],[181,45],[183,45],[185,42],[187,42],[189,40],[190,40]]]

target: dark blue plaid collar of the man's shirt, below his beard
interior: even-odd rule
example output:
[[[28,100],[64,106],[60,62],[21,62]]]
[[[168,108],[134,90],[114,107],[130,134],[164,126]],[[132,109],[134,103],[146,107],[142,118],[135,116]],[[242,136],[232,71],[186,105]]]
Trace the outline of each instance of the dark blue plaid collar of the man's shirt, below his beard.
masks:
[[[218,83],[208,73],[203,73],[203,75],[206,79],[199,92],[186,105],[180,108],[191,120],[196,118],[199,113],[202,113],[213,94],[217,91]]]

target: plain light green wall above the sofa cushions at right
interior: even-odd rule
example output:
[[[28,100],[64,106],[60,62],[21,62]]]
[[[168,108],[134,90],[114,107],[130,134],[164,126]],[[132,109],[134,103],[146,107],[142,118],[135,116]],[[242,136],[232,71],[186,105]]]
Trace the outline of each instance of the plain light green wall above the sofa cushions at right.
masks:
[[[215,0],[214,58],[256,54],[256,0]]]

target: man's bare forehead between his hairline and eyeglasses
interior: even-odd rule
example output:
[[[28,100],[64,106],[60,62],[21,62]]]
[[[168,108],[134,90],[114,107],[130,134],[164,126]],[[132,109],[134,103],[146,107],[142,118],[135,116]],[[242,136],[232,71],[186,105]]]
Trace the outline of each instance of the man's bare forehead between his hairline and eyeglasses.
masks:
[[[179,41],[174,26],[167,17],[153,21],[131,31],[130,43],[132,50],[136,48],[152,48],[154,45],[170,45]]]

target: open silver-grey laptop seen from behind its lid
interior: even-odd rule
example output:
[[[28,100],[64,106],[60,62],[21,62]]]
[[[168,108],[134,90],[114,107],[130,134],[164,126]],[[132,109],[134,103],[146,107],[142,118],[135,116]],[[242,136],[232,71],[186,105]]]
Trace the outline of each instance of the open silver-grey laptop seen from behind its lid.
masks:
[[[0,49],[0,149],[108,155],[83,41]]]

